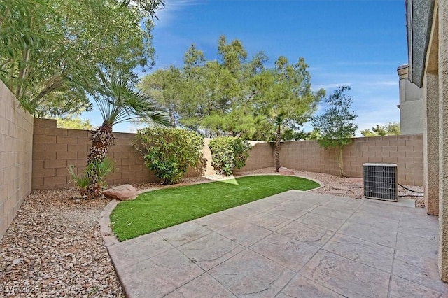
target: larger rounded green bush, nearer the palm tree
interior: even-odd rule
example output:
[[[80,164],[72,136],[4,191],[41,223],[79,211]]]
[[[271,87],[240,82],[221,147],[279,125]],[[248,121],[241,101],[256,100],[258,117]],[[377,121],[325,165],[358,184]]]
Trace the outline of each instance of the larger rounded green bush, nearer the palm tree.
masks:
[[[148,127],[139,129],[134,147],[155,176],[165,184],[174,184],[189,166],[200,165],[204,139],[186,129]]]

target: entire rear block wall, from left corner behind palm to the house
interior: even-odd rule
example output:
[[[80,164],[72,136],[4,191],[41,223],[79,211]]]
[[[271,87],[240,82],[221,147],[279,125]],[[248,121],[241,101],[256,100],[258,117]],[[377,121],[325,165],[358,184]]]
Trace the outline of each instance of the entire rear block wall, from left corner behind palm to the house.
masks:
[[[109,176],[110,185],[154,181],[144,160],[132,147],[135,134],[114,133],[115,146],[109,156],[116,160],[118,170]],[[206,175],[214,174],[211,166],[209,139],[205,140],[204,158],[207,159]],[[275,166],[272,143],[251,141],[253,148],[246,166],[239,171],[251,171]],[[34,120],[33,189],[61,188],[68,186],[66,167],[73,164],[84,169],[90,146],[88,132],[78,129],[58,129],[55,120]],[[335,154],[325,150],[316,141],[284,142],[281,147],[281,166],[290,169],[339,174]],[[347,176],[363,176],[366,162],[398,164],[398,181],[407,185],[423,185],[423,136],[384,136],[357,138],[344,150],[344,169]],[[189,169],[186,176],[200,176]]]

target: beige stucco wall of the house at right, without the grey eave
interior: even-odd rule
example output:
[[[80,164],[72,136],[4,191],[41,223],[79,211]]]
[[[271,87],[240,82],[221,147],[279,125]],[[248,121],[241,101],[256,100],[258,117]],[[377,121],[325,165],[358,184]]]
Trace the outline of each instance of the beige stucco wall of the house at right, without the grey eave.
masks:
[[[414,21],[414,20],[412,20]],[[409,20],[408,20],[409,22]],[[416,22],[416,27],[419,27]],[[438,269],[448,282],[448,3],[435,1],[423,74],[425,207],[439,216]],[[413,50],[410,48],[409,50]]]

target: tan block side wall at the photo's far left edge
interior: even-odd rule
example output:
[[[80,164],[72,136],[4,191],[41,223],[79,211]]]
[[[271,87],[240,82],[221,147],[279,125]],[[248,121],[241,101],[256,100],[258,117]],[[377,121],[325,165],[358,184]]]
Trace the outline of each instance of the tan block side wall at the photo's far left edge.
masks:
[[[0,81],[0,239],[31,192],[33,118]]]

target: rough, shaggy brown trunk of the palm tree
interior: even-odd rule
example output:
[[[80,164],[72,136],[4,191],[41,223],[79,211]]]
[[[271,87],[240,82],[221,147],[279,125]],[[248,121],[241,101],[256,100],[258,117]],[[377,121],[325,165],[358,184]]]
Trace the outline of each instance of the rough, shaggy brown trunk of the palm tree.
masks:
[[[104,161],[109,146],[113,145],[112,125],[104,122],[100,127],[94,130],[90,135],[92,147],[90,147],[89,156],[87,157],[87,177],[90,184],[87,187],[87,196],[98,198],[102,196],[102,177],[99,177],[94,164]]]

